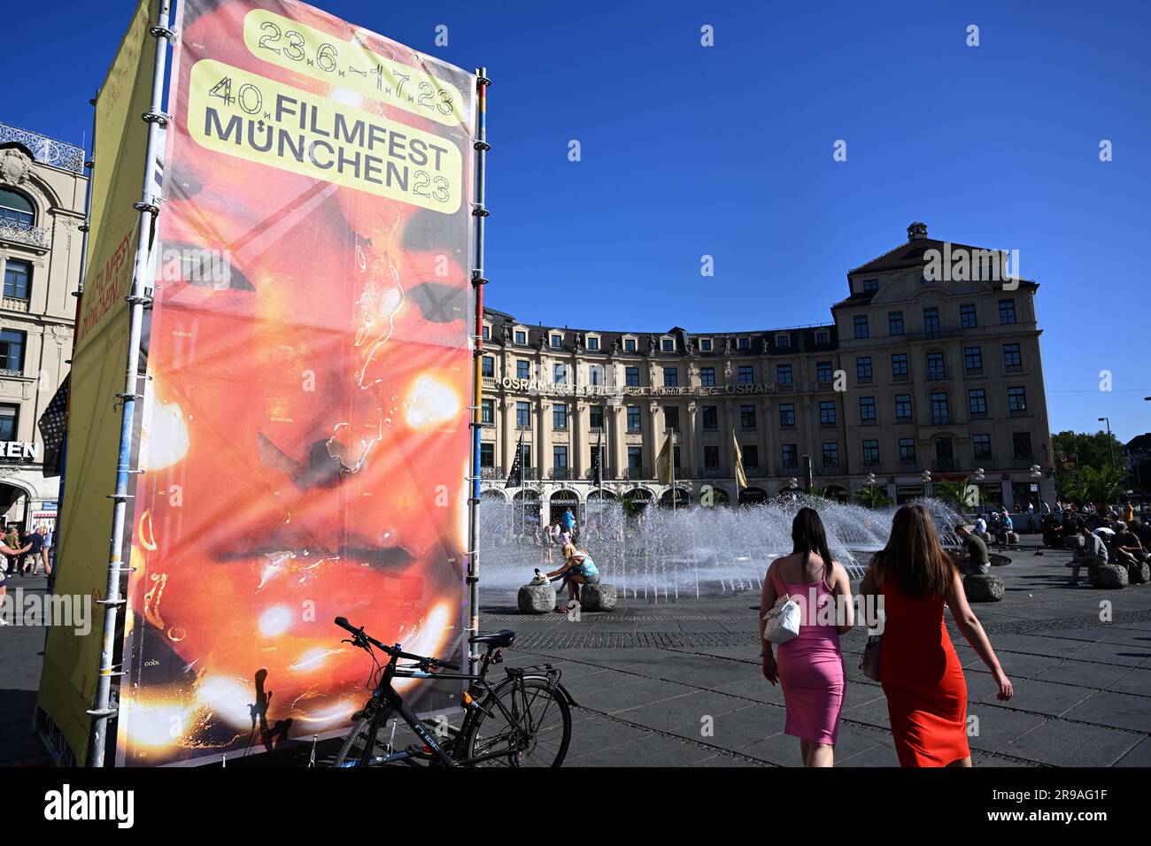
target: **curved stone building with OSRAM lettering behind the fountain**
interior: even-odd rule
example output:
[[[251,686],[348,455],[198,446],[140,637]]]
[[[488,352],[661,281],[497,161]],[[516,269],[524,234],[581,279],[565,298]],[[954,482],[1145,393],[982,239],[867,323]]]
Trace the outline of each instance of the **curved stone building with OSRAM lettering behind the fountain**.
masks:
[[[967,251],[974,272],[948,264],[940,277],[932,250]],[[601,496],[599,451],[604,498],[725,504],[814,485],[847,500],[874,483],[906,502],[946,480],[975,485],[985,504],[1051,501],[1038,285],[991,279],[1006,268],[983,267],[989,256],[914,223],[906,243],[847,273],[831,321],[799,328],[605,331],[489,308],[483,497],[544,519],[581,509]],[[669,432],[674,486],[655,472]],[[506,488],[517,452],[524,485]]]

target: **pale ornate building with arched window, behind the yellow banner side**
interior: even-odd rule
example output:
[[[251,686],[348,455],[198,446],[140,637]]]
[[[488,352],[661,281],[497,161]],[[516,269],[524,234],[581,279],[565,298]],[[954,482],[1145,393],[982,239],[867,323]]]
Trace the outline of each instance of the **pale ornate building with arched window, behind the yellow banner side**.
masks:
[[[37,421],[68,373],[83,244],[84,151],[0,123],[0,515],[51,524]]]

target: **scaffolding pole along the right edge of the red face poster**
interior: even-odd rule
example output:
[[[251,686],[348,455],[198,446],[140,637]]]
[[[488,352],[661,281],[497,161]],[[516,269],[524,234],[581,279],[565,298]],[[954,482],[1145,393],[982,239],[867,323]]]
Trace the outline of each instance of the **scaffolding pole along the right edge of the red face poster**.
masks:
[[[483,426],[481,407],[483,405],[483,379],[480,369],[483,355],[483,285],[488,283],[483,276],[483,223],[488,216],[485,206],[486,192],[483,184],[487,152],[491,147],[487,143],[487,68],[475,71],[475,203],[472,215],[475,218],[475,264],[472,268],[472,287],[475,289],[475,355],[473,358],[473,381],[475,391],[472,403],[472,496],[467,501],[467,638],[468,668],[472,672],[479,670],[480,648],[471,642],[472,637],[480,632],[480,428]],[[523,472],[523,471],[521,471]]]

